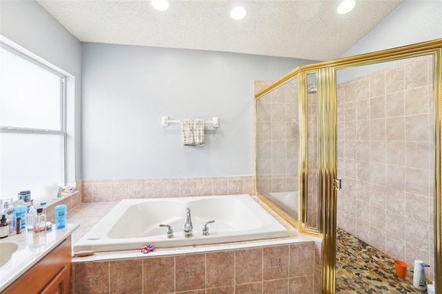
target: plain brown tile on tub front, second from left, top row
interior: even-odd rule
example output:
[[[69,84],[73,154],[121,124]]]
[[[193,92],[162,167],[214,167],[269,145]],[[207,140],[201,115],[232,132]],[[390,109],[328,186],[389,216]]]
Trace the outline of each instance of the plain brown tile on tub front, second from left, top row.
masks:
[[[113,260],[109,267],[111,293],[143,293],[142,260]]]

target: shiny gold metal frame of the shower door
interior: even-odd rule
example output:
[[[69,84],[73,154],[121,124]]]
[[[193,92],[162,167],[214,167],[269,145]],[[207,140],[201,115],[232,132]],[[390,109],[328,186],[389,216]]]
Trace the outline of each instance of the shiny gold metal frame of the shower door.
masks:
[[[287,219],[299,231],[323,237],[322,288],[323,293],[335,293],[336,266],[336,197],[334,179],[337,177],[337,106],[336,71],[385,61],[395,61],[422,55],[433,57],[434,84],[434,267],[436,285],[442,285],[442,197],[441,197],[441,99],[442,99],[442,39],[410,46],[345,57],[333,61],[300,66],[258,92],[258,98],[298,77],[299,166],[298,166],[298,219]],[[318,88],[318,228],[307,226],[307,74],[316,73]],[[256,154],[256,153],[255,153]],[[256,175],[258,175],[256,173]],[[267,204],[265,197],[258,194]],[[270,205],[272,206],[272,205]],[[273,206],[274,208],[274,206]],[[278,212],[278,209],[276,209]],[[436,286],[442,294],[442,286]]]

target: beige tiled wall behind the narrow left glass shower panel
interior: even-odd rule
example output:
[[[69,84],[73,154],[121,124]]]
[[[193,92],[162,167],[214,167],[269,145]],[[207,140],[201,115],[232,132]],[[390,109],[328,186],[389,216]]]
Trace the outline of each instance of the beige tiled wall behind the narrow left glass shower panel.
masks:
[[[258,192],[298,191],[298,84],[258,99],[256,115]]]

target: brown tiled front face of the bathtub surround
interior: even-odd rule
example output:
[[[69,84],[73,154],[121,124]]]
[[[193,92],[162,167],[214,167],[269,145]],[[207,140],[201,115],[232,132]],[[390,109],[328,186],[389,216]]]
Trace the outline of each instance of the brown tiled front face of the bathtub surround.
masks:
[[[73,263],[73,293],[313,294],[320,243]]]

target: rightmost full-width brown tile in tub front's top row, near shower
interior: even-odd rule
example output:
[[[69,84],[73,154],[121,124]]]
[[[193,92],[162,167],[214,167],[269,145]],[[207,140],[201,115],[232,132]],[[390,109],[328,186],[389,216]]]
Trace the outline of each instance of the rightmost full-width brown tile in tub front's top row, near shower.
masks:
[[[289,277],[313,275],[314,243],[292,244],[289,250]]]

